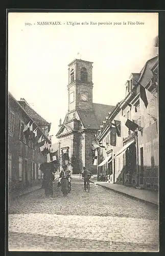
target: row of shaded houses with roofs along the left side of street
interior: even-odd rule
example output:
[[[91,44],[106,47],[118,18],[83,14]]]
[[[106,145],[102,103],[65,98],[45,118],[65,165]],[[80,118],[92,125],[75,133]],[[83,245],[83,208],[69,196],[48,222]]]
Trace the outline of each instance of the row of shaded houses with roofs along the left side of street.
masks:
[[[23,134],[25,125],[31,121],[33,128],[38,128],[37,139],[42,135],[46,142],[51,143],[48,137],[51,124],[38,115],[25,99],[17,101],[9,92],[8,102],[8,178],[9,192],[12,194],[15,190],[41,183],[39,167],[47,160],[47,154],[41,153],[37,144],[26,140]]]

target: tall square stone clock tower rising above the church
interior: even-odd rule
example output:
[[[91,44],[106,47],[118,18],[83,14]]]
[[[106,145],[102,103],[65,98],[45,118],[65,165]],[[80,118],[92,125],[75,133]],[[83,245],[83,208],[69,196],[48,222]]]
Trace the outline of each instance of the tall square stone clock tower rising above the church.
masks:
[[[68,65],[68,113],[92,110],[92,63],[75,59]]]

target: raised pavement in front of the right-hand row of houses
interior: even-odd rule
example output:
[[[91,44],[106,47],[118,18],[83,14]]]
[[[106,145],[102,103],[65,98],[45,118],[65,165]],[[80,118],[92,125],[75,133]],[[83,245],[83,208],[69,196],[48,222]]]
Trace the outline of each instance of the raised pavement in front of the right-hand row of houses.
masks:
[[[127,187],[119,184],[113,184],[108,182],[95,182],[95,184],[115,191],[116,193],[123,194],[125,196],[140,200],[143,202],[152,203],[154,205],[159,204],[159,195],[157,191],[150,191],[145,189],[136,189],[133,187]]]

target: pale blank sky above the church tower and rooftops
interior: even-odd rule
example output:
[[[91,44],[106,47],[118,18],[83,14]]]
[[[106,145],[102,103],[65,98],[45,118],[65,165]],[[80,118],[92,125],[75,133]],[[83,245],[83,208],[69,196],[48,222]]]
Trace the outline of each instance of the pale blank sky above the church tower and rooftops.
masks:
[[[130,74],[155,56],[157,35],[158,13],[9,13],[8,90],[52,123],[55,143],[68,109],[68,64],[80,55],[92,61],[93,102],[116,105]]]

